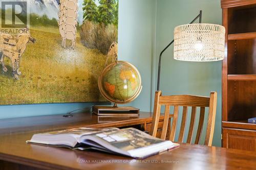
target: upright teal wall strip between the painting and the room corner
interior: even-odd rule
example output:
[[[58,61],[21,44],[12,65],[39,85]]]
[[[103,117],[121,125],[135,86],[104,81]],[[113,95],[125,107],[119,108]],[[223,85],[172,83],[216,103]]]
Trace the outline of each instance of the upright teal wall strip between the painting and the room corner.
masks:
[[[134,64],[142,78],[138,98],[127,105],[151,110],[155,58],[156,0],[119,0],[118,59]]]

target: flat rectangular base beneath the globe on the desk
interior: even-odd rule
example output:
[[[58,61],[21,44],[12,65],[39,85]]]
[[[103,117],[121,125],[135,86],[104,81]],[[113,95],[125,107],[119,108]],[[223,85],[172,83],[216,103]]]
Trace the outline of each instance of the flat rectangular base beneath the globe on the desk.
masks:
[[[138,116],[140,109],[131,106],[93,106],[93,113],[98,116]]]

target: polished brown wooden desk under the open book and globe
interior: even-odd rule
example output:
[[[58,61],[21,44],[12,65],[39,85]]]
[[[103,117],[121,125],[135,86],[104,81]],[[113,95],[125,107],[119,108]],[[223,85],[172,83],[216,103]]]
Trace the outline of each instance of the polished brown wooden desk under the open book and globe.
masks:
[[[85,120],[84,118],[88,118]],[[89,118],[91,117],[91,119]],[[58,118],[58,119],[53,119]],[[256,154],[250,151],[181,144],[173,151],[144,160],[111,155],[96,151],[27,144],[34,133],[71,127],[117,127],[142,125],[152,122],[152,114],[98,123],[90,113],[75,114],[71,119],[59,115],[0,120],[0,169],[255,169]],[[161,117],[162,119],[162,117]],[[33,120],[33,121],[32,121]],[[90,123],[91,121],[91,123]],[[69,123],[68,123],[69,122]],[[16,123],[16,124],[15,124]],[[53,124],[54,123],[54,124]],[[66,127],[65,127],[66,125]]]

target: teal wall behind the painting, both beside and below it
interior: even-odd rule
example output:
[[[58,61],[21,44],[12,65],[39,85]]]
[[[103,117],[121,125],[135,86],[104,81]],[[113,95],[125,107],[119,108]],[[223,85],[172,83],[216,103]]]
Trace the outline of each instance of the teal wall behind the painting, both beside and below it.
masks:
[[[120,0],[119,2],[119,60],[138,67],[143,90],[133,104],[150,110],[151,64],[155,53],[155,0]],[[0,119],[12,117],[66,114],[76,109],[90,109],[97,103],[36,104],[0,106]]]

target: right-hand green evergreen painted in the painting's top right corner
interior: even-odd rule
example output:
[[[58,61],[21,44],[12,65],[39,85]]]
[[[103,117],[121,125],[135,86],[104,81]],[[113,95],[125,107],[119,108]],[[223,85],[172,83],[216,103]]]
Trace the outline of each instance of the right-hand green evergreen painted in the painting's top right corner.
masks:
[[[98,22],[103,22],[105,25],[114,23],[116,0],[99,0],[99,4]]]

